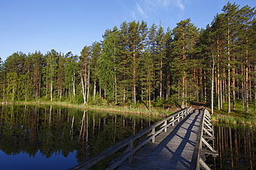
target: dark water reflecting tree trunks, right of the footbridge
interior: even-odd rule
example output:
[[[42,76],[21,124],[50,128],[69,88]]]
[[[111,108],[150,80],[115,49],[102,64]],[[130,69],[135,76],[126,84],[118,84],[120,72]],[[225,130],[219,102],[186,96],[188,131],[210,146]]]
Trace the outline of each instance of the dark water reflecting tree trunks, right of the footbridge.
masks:
[[[214,132],[216,169],[256,169],[255,128],[214,124]]]

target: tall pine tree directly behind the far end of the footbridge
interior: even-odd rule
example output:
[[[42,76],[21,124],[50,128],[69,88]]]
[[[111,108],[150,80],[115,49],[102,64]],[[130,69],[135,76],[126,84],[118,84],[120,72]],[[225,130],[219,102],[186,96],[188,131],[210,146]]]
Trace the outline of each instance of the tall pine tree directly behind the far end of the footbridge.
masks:
[[[188,87],[190,81],[191,66],[193,65],[193,55],[196,52],[196,42],[198,39],[198,29],[190,23],[190,19],[177,23],[172,30],[174,35],[173,61],[170,65],[176,80],[176,90],[181,93],[181,108],[187,107]]]

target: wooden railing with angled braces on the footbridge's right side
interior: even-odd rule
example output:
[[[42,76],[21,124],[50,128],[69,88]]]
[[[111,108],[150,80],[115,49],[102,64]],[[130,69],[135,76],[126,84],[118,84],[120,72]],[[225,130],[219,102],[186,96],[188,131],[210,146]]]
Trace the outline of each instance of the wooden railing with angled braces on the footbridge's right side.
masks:
[[[201,118],[201,123],[199,127],[199,134],[196,138],[196,143],[194,145],[194,152],[190,164],[190,169],[210,169],[207,164],[205,164],[201,154],[211,154],[212,156],[218,156],[218,151],[215,151],[213,147],[208,143],[209,140],[214,140],[214,130],[212,124],[210,123],[210,113],[207,109],[203,110],[203,116]],[[212,142],[213,144],[213,142]]]

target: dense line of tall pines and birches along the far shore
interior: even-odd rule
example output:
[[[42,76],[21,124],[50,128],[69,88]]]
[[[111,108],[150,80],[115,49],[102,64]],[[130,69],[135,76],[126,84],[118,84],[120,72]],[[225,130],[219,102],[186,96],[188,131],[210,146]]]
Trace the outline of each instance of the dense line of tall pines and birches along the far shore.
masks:
[[[228,112],[256,100],[255,7],[227,3],[205,29],[190,19],[165,31],[145,21],[107,29],[80,56],[15,52],[1,67],[1,98],[102,104],[210,102]],[[213,95],[212,95],[213,94]],[[231,104],[232,103],[232,104]]]

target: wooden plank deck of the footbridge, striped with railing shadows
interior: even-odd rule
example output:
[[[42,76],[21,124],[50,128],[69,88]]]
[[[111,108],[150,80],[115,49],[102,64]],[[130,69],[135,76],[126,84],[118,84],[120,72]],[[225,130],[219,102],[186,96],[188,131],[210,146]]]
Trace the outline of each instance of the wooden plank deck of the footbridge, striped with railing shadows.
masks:
[[[149,142],[135,153],[131,164],[126,161],[119,169],[190,169],[200,121],[201,113],[196,109],[157,136],[155,143]]]

